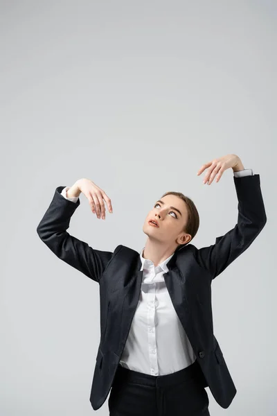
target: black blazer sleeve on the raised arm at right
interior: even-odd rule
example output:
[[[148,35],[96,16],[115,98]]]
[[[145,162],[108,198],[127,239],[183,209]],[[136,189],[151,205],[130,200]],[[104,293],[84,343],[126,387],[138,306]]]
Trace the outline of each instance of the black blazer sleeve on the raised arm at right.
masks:
[[[199,266],[215,279],[242,254],[265,227],[267,216],[260,189],[260,175],[233,177],[238,196],[238,223],[209,247],[195,248]]]

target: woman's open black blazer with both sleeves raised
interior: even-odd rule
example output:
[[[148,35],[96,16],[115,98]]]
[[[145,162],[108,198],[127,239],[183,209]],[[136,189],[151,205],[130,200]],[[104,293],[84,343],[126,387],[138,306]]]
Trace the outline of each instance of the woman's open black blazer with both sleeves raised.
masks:
[[[209,247],[193,244],[175,250],[164,274],[172,304],[188,335],[217,403],[228,408],[237,390],[213,334],[211,282],[260,234],[267,222],[260,175],[233,177],[238,196],[238,223]],[[59,258],[90,279],[100,291],[100,344],[90,401],[98,410],[107,399],[139,302],[143,272],[139,253],[118,245],[114,252],[91,248],[66,229],[77,202],[66,200],[57,187],[53,200],[37,226],[39,238]]]

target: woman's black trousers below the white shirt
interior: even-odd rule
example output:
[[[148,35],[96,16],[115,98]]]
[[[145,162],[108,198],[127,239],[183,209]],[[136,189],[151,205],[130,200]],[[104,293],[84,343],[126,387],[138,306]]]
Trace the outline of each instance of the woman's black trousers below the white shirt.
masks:
[[[109,416],[210,416],[204,385],[197,361],[164,376],[118,365],[108,400]]]

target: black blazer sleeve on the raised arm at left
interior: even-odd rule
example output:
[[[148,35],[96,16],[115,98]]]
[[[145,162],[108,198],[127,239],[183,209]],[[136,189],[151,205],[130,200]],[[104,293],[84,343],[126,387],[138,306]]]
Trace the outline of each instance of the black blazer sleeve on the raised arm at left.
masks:
[[[62,189],[55,189],[53,200],[37,226],[37,234],[59,259],[99,283],[114,253],[95,250],[66,231],[80,198],[77,202],[68,200],[61,195]]]

